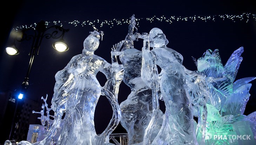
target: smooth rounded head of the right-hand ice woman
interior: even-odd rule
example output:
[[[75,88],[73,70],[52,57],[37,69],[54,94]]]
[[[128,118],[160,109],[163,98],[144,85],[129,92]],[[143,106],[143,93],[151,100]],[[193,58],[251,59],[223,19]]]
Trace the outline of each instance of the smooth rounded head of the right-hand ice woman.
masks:
[[[163,34],[163,31],[159,28],[153,28],[149,32],[149,42],[150,47],[166,47],[169,41],[166,39],[166,36]]]

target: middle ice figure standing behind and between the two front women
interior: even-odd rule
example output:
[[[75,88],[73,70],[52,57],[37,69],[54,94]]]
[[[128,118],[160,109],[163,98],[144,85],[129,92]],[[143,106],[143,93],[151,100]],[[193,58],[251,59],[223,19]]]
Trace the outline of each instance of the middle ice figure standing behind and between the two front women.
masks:
[[[146,138],[147,141],[150,138],[153,140],[162,123],[161,118],[155,115],[157,112],[154,111],[152,106],[152,90],[141,79],[142,52],[135,49],[133,44],[133,41],[137,40],[134,35],[134,29],[137,32],[135,25],[133,15],[125,40],[114,46],[112,51],[112,55],[119,55],[124,67],[123,82],[131,89],[127,99],[120,104],[122,110],[121,125],[128,132],[128,144],[142,143],[143,138]],[[122,44],[124,47],[121,49]],[[114,61],[117,62],[117,60]],[[159,108],[157,111],[159,111]],[[163,113],[160,111],[160,116],[162,115]],[[152,116],[154,120],[150,122]],[[155,127],[156,123],[157,127]],[[153,130],[154,133],[152,134]]]

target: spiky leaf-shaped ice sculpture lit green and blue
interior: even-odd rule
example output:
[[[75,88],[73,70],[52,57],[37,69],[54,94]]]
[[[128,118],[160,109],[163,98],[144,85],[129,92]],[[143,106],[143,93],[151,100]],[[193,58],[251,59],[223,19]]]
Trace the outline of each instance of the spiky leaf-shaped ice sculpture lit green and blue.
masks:
[[[250,97],[250,81],[256,77],[242,78],[234,82],[242,61],[243,47],[234,51],[223,66],[218,49],[207,50],[195,63],[198,72],[206,77],[222,78],[208,82],[206,145],[255,144],[256,112],[243,115]],[[201,140],[202,136],[197,136]]]

